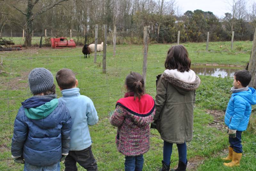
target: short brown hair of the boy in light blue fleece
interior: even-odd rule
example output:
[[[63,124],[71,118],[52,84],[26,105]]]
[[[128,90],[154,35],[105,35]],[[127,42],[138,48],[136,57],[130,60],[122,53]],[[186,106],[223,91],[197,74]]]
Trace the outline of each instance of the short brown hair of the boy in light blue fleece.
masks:
[[[57,72],[56,81],[63,90],[69,89],[76,85],[76,75],[72,70],[63,68]]]

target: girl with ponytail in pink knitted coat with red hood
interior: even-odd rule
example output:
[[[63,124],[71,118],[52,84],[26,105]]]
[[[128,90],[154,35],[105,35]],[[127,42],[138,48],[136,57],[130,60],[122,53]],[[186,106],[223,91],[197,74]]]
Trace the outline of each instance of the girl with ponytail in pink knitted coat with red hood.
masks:
[[[127,93],[116,102],[110,123],[117,126],[116,146],[125,155],[125,171],[141,171],[149,150],[149,123],[155,114],[153,98],[145,94],[142,76],[131,72],[125,79]]]

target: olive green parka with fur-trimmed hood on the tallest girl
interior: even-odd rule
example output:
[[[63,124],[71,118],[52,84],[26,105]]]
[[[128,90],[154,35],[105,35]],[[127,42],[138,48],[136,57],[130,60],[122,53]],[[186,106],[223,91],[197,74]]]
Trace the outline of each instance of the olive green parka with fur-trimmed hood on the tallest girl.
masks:
[[[193,82],[185,82],[166,72],[157,76],[154,121],[164,141],[182,144],[192,140],[193,108],[200,81],[196,76]]]

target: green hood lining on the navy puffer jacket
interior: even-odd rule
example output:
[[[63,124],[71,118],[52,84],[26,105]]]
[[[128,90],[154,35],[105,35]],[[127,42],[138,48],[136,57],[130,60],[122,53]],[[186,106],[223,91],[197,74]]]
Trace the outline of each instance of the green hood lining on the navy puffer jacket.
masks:
[[[36,108],[24,108],[25,115],[29,119],[43,119],[52,113],[52,111],[58,106],[58,102],[58,99],[52,99],[51,101]]]

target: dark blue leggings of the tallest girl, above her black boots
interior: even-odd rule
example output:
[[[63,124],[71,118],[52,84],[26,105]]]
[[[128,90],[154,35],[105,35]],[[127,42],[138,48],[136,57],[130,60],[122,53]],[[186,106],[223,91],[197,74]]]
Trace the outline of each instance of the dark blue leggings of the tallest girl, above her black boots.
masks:
[[[163,150],[163,161],[166,165],[170,164],[171,155],[172,155],[172,143],[164,141],[164,150]],[[187,163],[187,145],[186,142],[183,144],[177,144],[179,152],[179,160],[183,163]]]

